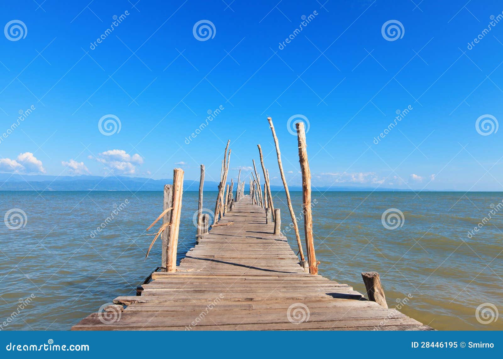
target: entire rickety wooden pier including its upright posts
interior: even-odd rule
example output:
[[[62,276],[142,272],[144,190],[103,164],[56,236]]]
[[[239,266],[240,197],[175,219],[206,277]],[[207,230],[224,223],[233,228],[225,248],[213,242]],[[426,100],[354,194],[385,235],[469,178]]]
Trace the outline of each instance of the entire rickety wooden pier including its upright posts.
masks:
[[[298,253],[281,233],[280,210],[274,208],[269,170],[260,145],[264,191],[253,160],[249,195],[244,195],[246,180],[241,181],[241,170],[233,195],[234,180],[230,185],[227,182],[229,140],[214,212],[203,211],[205,168],[201,165],[199,206],[194,214],[196,246],[177,266],[184,171],[175,168],[173,185],[164,186],[163,212],[147,228],[162,218],[146,254],[160,236],[162,258],[157,270],[162,272],[154,271],[138,288],[137,296],[117,297],[113,304],[103,305],[72,330],[432,330],[396,309],[388,309],[375,272],[362,273],[368,299],[347,284],[318,275],[304,125],[295,124],[302,173],[305,257],[278,138],[270,117],[268,122]],[[214,215],[213,223],[203,212]]]

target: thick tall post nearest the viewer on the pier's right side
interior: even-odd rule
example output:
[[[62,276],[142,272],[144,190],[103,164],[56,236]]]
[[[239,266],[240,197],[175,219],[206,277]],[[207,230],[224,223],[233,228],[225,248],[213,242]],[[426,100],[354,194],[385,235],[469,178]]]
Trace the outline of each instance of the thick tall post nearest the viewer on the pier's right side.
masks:
[[[309,262],[309,273],[318,274],[318,264],[314,254],[313,240],[313,217],[311,210],[311,170],[307,160],[306,133],[304,123],[298,122],[297,138],[299,145],[300,170],[302,172],[302,207],[304,208],[304,232],[306,237],[307,261]]]

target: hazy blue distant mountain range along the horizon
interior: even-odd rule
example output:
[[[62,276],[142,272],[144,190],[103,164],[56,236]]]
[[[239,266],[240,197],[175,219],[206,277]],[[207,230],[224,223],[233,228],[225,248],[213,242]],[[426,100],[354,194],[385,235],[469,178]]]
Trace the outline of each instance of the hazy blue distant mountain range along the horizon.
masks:
[[[173,179],[152,180],[127,176],[54,176],[45,174],[0,173],[0,191],[162,191]],[[313,187],[314,191],[374,191],[375,187]],[[198,191],[199,181],[184,181],[184,191]],[[217,191],[218,183],[204,182],[205,191]],[[283,191],[283,186],[271,186],[272,191]],[[290,191],[302,191],[301,186],[289,186]],[[245,187],[245,193],[248,187]],[[409,190],[379,188],[378,191]]]

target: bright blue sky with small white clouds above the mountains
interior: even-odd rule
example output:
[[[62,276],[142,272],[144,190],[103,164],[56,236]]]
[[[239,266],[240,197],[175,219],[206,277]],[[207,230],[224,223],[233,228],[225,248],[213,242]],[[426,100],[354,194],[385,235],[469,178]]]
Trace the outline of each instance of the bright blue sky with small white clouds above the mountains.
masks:
[[[502,191],[503,7],[481,3],[7,2],[2,26],[22,24],[0,39],[0,132],[19,126],[0,140],[0,170],[169,178],[182,166],[195,180],[204,163],[218,181],[230,139],[230,176],[260,143],[280,185],[271,116],[298,185],[287,123],[302,115],[315,187]],[[103,135],[102,118],[120,131]]]

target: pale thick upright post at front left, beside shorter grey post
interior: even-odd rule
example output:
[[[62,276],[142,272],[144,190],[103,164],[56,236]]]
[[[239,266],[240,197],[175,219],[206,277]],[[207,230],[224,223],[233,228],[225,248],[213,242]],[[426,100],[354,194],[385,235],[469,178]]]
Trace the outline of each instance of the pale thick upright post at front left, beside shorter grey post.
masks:
[[[180,231],[180,214],[182,213],[182,195],[184,192],[184,171],[175,168],[173,173],[173,210],[171,215],[170,234],[167,243],[167,272],[177,271],[178,233]]]

